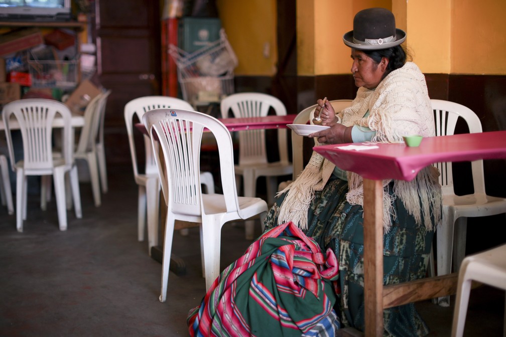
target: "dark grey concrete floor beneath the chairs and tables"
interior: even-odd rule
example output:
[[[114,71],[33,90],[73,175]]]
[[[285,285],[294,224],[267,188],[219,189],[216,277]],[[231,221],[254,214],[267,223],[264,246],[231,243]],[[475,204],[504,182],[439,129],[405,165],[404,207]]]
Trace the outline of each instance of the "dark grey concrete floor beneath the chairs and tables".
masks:
[[[205,293],[198,229],[175,234],[173,252],[186,274],[170,273],[167,302],[160,303],[161,265],[137,240],[137,186],[130,166],[109,168],[109,192],[93,205],[81,183],[83,218],[68,212],[58,230],[54,200],[46,212],[29,197],[24,232],[0,208],[0,336],[187,336],[188,311]],[[260,234],[260,225],[257,226]],[[241,223],[222,231],[221,267],[249,245]],[[451,305],[454,300],[451,299]],[[417,303],[430,336],[449,336],[453,307]],[[466,336],[501,336],[504,292],[472,291]]]

